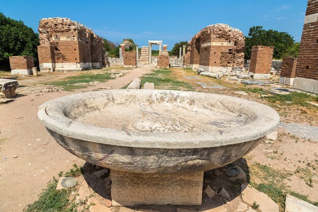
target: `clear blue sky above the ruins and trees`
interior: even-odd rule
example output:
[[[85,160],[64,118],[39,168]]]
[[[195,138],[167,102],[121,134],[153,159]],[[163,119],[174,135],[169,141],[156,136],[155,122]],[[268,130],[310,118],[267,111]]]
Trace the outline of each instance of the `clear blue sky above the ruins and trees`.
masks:
[[[210,24],[226,23],[247,36],[249,27],[287,32],[300,41],[305,0],[230,1],[22,1],[0,0],[0,12],[38,32],[41,18],[68,17],[114,42],[132,38],[139,46],[162,40],[171,49]],[[154,48],[156,49],[156,48]]]

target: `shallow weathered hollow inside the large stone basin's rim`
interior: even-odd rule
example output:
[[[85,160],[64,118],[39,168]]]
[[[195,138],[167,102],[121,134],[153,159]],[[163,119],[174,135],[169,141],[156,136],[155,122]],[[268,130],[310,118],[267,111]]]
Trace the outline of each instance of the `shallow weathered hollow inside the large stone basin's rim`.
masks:
[[[192,92],[100,92],[72,101],[65,114],[85,124],[120,131],[221,131],[246,125],[255,116],[233,99]]]

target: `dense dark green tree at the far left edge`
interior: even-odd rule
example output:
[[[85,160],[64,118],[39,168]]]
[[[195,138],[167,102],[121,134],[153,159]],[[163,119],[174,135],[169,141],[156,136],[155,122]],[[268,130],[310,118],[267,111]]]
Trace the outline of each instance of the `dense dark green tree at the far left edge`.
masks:
[[[9,56],[29,55],[38,64],[39,35],[23,21],[14,20],[0,13],[0,64],[10,69]]]

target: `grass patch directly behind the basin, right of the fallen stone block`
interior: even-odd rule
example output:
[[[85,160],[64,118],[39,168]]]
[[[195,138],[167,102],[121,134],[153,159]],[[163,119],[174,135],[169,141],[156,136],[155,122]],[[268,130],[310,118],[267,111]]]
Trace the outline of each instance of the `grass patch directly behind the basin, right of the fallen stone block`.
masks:
[[[154,83],[155,89],[194,90],[191,84],[177,80],[173,75],[173,72],[167,68],[153,70],[151,73],[142,76],[140,79],[142,85],[145,82]]]

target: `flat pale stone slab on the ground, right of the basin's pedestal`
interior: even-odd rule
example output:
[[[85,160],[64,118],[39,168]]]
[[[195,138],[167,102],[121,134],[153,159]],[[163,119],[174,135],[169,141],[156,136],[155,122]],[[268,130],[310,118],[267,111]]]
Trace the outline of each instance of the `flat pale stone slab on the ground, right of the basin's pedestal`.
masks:
[[[263,192],[256,190],[255,188],[248,187],[248,184],[242,184],[241,186],[242,199],[249,205],[253,205],[256,202],[260,205],[261,212],[278,212],[278,205],[269,198]]]

